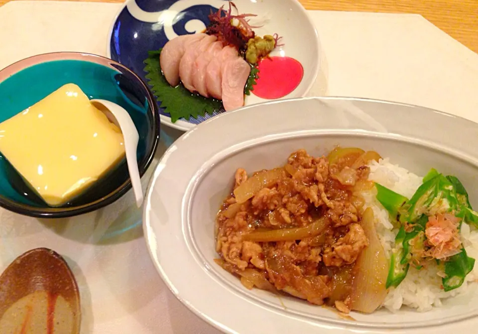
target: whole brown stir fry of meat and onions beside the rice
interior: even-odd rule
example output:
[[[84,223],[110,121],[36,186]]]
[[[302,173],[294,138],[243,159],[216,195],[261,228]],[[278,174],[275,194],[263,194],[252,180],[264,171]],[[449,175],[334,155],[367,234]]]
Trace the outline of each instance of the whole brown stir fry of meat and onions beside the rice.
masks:
[[[379,158],[360,149],[318,158],[299,150],[283,167],[250,176],[239,168],[217,216],[216,262],[248,289],[373,312],[386,296],[388,260],[359,192],[373,187],[366,165]]]

